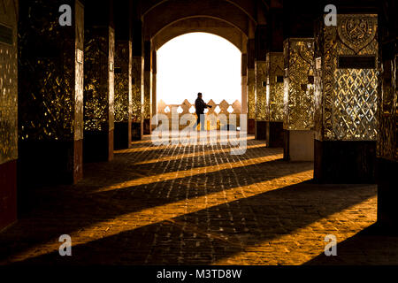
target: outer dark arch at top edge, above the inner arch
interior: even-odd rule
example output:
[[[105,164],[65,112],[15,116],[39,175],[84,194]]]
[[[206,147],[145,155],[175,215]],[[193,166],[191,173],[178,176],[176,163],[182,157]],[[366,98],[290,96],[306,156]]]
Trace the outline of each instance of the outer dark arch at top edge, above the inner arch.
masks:
[[[235,4],[226,1],[170,0],[157,4],[142,17],[144,40],[148,41],[165,27],[181,19],[189,18],[211,18],[225,21],[246,35],[249,34],[250,25],[256,25],[256,22],[249,18],[247,13]]]

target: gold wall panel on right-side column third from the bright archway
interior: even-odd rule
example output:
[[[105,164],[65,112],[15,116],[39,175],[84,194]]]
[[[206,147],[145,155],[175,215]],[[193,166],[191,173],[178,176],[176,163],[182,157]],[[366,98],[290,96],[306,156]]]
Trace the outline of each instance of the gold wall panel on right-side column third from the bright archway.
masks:
[[[283,52],[269,52],[266,55],[267,87],[266,109],[268,120],[283,121]]]

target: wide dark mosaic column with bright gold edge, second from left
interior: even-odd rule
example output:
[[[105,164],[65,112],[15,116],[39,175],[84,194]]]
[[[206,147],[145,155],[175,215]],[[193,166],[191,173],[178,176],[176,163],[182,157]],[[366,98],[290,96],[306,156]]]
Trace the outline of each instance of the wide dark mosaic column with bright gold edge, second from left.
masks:
[[[72,8],[71,27],[59,24],[61,4]],[[21,1],[19,12],[19,203],[25,209],[35,185],[82,178],[84,8],[79,1]]]

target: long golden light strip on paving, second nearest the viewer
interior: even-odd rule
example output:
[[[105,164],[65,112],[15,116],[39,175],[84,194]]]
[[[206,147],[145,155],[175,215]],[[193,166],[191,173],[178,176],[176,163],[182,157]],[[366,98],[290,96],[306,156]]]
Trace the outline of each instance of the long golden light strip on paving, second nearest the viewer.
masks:
[[[175,174],[175,173],[174,173]],[[132,231],[142,226],[154,225],[163,221],[173,221],[172,218],[178,218],[188,213],[195,213],[199,210],[209,209],[225,203],[231,203],[245,199],[254,195],[260,195],[282,187],[293,186],[305,180],[312,179],[313,170],[282,176],[272,180],[264,180],[248,186],[233,187],[208,195],[198,196],[192,199],[184,199],[176,203],[167,203],[157,207],[145,210],[135,211],[119,215],[105,221],[97,222],[94,225],[84,227],[79,231],[70,233],[73,239],[73,246],[86,244],[90,241],[96,241],[104,237],[110,237],[119,233]],[[258,189],[261,187],[261,190]],[[184,207],[184,212],[180,208]],[[139,221],[127,221],[127,218],[140,219]],[[117,227],[117,229],[112,229]],[[59,249],[58,238],[36,245],[24,252],[11,256],[8,260],[11,262],[20,261],[24,258],[33,256],[42,256],[47,253],[56,252]]]

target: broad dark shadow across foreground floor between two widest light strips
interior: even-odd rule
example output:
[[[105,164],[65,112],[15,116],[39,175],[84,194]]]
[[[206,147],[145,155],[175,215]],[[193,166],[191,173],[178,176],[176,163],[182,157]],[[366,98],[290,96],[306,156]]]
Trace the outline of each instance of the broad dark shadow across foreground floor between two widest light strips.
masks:
[[[73,246],[73,256],[56,251],[18,264],[213,264],[375,193],[374,186],[304,182],[88,241]]]

